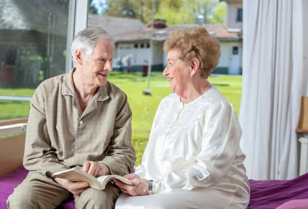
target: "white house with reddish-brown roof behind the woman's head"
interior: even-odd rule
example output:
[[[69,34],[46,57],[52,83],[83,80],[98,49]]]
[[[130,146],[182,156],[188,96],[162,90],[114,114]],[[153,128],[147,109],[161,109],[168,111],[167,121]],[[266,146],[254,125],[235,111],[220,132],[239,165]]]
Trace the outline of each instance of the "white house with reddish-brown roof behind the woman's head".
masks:
[[[167,53],[163,51],[163,43],[171,31],[185,28],[205,27],[221,44],[221,57],[217,74],[242,73],[242,1],[227,1],[226,25],[201,24],[166,26],[164,20],[157,19],[153,24],[152,71],[163,71],[167,66]],[[133,30],[115,35],[115,57],[132,55],[131,66],[134,71],[142,71],[150,56],[151,27]]]

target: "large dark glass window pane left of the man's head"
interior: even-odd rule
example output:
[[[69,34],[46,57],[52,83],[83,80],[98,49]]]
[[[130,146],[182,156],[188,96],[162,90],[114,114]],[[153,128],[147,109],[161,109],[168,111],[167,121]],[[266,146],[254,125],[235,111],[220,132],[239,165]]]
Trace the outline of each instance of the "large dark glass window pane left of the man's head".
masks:
[[[28,117],[36,87],[66,72],[68,31],[73,36],[68,22],[74,2],[11,2],[0,7],[0,19],[6,19],[0,26],[0,120]]]

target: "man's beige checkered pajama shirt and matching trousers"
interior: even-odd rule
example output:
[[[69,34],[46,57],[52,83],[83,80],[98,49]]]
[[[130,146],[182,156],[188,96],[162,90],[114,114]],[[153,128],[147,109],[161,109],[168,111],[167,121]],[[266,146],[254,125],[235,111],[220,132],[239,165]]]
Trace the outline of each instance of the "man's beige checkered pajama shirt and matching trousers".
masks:
[[[98,88],[85,111],[81,112],[74,93],[72,73],[73,70],[50,78],[35,90],[30,102],[24,155],[24,166],[30,173],[9,197],[8,205],[12,208],[18,207],[13,205],[22,202],[21,193],[25,192],[28,192],[30,199],[34,194],[34,200],[41,198],[42,201],[37,201],[37,204],[55,198],[49,205],[44,203],[44,208],[60,204],[69,193],[63,191],[51,175],[75,166],[81,168],[87,160],[104,163],[111,174],[121,176],[133,169],[136,154],[131,145],[131,110],[126,94],[107,82],[106,86]],[[37,189],[43,181],[50,184],[50,189]],[[75,196],[76,207],[84,208],[88,204],[86,201],[91,199],[98,204],[97,208],[112,206],[119,194],[114,187],[108,190],[87,189],[80,197]],[[102,198],[109,203],[101,204],[105,202]],[[80,206],[78,202],[82,202]]]

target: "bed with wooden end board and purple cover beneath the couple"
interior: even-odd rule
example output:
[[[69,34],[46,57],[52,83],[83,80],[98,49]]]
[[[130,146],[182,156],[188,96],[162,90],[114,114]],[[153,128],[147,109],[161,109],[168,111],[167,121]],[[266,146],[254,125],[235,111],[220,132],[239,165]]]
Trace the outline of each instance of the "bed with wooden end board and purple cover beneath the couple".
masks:
[[[13,122],[11,121],[11,124]],[[23,130],[25,130],[24,125]],[[22,166],[24,146],[25,134],[0,138],[0,209],[7,208],[8,196],[27,176],[28,171]],[[290,200],[305,200],[302,204],[306,204],[308,208],[308,173],[292,180],[249,180],[249,183],[251,199],[248,208],[276,208]],[[69,200],[56,208],[73,209],[74,201]]]

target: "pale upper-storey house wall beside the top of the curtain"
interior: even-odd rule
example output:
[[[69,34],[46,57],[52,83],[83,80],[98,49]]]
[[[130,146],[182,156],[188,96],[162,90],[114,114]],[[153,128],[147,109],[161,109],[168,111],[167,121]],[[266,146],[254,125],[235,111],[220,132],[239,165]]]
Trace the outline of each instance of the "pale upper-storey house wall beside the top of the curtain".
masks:
[[[227,28],[231,29],[243,29],[243,22],[237,22],[238,9],[243,8],[241,2],[228,2],[226,24]]]

